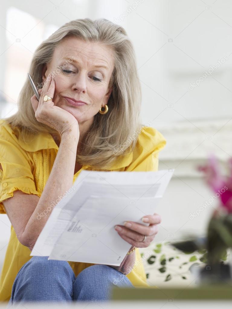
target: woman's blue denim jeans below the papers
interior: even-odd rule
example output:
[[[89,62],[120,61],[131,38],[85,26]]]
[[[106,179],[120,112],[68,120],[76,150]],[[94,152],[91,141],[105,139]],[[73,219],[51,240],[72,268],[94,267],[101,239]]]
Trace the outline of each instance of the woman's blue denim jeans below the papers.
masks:
[[[8,305],[16,302],[108,301],[112,286],[132,287],[130,280],[107,265],[92,265],[75,277],[67,261],[32,256],[19,270]]]

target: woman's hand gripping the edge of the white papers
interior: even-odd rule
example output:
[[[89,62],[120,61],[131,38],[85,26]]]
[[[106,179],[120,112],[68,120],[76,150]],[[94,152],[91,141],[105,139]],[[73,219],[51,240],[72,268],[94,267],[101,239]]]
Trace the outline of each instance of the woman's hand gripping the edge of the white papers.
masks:
[[[144,220],[145,218],[147,221]],[[155,235],[158,233],[158,224],[161,222],[161,217],[155,213],[153,215],[144,216],[142,221],[150,223],[149,226],[133,221],[126,221],[124,222],[124,226],[116,225],[115,230],[132,246],[137,248],[146,248],[150,245]],[[143,241],[144,238],[145,240]]]

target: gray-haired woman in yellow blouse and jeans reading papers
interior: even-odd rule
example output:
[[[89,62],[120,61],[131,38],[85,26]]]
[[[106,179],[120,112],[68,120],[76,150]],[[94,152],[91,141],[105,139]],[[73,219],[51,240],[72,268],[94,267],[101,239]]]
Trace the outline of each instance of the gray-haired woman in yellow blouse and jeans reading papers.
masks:
[[[149,226],[116,226],[131,244],[120,266],[30,256],[49,218],[49,212],[40,220],[38,214],[80,171],[158,169],[166,140],[141,125],[141,88],[127,33],[106,19],[73,20],[40,44],[29,73],[42,86],[39,101],[27,80],[18,112],[0,127],[0,211],[11,221],[0,300],[102,301],[113,285],[148,286],[138,248],[153,241],[158,214],[144,214]]]

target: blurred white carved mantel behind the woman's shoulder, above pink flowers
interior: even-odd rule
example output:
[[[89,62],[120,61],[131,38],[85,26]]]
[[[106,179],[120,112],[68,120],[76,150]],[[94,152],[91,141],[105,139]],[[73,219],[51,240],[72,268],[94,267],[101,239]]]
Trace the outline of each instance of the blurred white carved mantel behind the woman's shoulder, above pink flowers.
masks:
[[[232,118],[183,121],[157,129],[167,140],[159,154],[159,169],[175,168],[177,176],[200,177],[196,166],[210,154],[216,155],[222,167],[232,157]]]

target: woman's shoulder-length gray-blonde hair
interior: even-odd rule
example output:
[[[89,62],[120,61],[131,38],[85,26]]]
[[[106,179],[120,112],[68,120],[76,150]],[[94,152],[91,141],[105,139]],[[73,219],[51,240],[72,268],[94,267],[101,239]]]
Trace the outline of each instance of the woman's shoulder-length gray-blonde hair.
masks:
[[[99,42],[114,51],[114,69],[109,82],[113,87],[108,99],[109,110],[94,116],[93,124],[84,137],[84,143],[76,161],[94,168],[109,167],[118,156],[133,151],[137,138],[131,138],[141,130],[141,85],[137,75],[136,57],[133,44],[123,27],[107,19],[76,19],[65,23],[34,53],[29,74],[36,85],[42,83],[42,70],[52,60],[53,52],[61,40],[75,36],[86,42]],[[19,93],[18,111],[6,118],[12,126],[21,129],[26,141],[27,133],[49,132],[57,134],[53,128],[36,120],[31,97],[34,95],[27,79]],[[123,147],[122,147],[123,145]],[[118,151],[118,150],[122,151]]]

